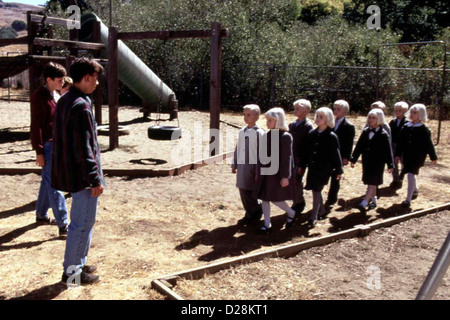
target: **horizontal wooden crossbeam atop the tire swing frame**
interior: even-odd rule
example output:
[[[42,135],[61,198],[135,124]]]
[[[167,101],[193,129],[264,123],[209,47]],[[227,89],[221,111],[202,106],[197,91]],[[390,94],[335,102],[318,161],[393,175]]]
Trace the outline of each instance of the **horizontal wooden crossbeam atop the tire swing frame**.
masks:
[[[220,30],[221,37],[228,37],[228,29]],[[179,31],[143,31],[143,32],[120,32],[118,38],[121,40],[145,40],[145,39],[188,39],[188,38],[210,38],[211,30],[179,30]]]

